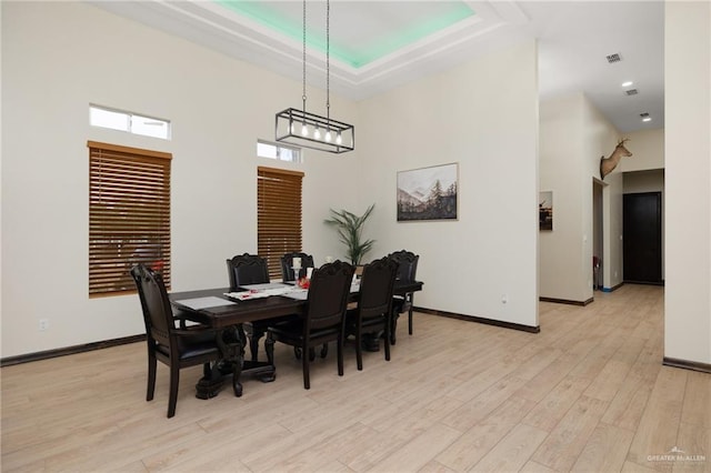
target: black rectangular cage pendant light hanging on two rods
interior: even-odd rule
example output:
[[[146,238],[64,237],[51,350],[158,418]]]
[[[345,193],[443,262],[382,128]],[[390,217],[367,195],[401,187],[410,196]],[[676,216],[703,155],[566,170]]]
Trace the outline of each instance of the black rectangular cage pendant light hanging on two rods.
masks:
[[[331,119],[331,58],[330,58],[331,4],[326,1],[326,117],[307,112],[307,0],[303,0],[303,89],[302,109],[287,109],[277,113],[274,138],[301,148],[344,153],[356,149],[356,128]]]

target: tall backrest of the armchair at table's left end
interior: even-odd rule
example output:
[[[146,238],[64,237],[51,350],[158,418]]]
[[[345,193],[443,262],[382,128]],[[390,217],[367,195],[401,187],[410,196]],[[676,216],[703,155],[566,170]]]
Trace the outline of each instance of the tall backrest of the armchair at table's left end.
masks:
[[[149,343],[152,339],[162,345],[170,346],[171,331],[176,325],[163,278],[144,264],[133,266],[131,276],[133,276],[141,300]]]

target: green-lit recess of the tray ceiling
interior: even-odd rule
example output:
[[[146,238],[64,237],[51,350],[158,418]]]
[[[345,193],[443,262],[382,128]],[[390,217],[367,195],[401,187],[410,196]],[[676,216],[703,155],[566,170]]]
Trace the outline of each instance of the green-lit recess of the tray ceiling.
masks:
[[[299,43],[303,40],[301,13],[299,13],[299,18],[284,16],[273,7],[280,2],[246,0],[214,0],[214,2]],[[322,7],[324,2],[318,2],[318,4]],[[330,56],[332,59],[358,69],[474,16],[474,11],[464,2],[442,2],[440,7],[443,4],[445,8],[440,8],[441,11],[437,16],[430,16],[399,29],[384,29],[383,34],[369,38],[356,46],[339,43],[336,39],[337,34],[331,29]],[[309,8],[308,4],[307,8]],[[300,11],[301,9],[299,9]],[[308,14],[312,14],[310,10],[308,10]],[[324,14],[322,16],[324,17]],[[333,7],[331,7],[331,28],[333,28]],[[323,29],[326,29],[326,20]],[[317,31],[318,36],[314,37],[307,28],[307,44],[310,49],[322,51],[326,54],[323,29]]]

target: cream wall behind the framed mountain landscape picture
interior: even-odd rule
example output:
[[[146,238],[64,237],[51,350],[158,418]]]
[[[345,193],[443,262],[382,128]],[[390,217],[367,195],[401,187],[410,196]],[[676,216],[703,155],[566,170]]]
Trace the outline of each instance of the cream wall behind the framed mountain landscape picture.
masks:
[[[417,305],[538,325],[537,74],[527,42],[360,104],[373,253],[420,254]],[[397,172],[452,162],[459,220],[398,223]]]

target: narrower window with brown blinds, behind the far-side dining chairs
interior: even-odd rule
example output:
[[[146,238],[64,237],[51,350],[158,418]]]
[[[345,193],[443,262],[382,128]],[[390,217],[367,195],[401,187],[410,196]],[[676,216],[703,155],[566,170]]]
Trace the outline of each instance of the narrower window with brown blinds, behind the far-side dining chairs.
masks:
[[[257,169],[257,252],[270,278],[281,278],[284,253],[301,251],[302,178],[300,171]]]

